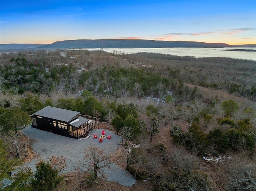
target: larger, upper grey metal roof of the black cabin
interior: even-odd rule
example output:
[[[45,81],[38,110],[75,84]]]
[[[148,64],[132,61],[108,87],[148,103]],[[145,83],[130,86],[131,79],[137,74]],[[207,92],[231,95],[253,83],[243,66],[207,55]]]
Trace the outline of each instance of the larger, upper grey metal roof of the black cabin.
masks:
[[[46,106],[42,108],[41,110],[34,113],[34,115],[52,118],[64,122],[69,122],[73,118],[75,118],[80,112],[78,111],[72,111],[62,108],[56,108],[51,106]]]

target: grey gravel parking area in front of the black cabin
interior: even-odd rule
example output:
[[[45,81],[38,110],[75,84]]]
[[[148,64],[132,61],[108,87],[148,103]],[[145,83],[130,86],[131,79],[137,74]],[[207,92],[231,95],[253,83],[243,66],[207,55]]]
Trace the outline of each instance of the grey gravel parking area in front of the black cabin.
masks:
[[[77,167],[79,167],[78,163],[83,160],[84,148],[90,145],[90,143],[94,144],[96,147],[104,148],[106,150],[116,150],[120,146],[118,145],[118,142],[122,141],[122,137],[108,130],[105,130],[105,135],[108,136],[111,134],[112,139],[106,138],[102,143],[99,143],[98,138],[101,135],[102,130],[103,129],[91,130],[89,137],[76,140],[28,126],[23,130],[23,132],[26,136],[37,140],[37,142],[32,145],[32,148],[39,158],[27,163],[26,166],[30,167],[32,171],[35,171],[35,164],[39,159],[46,161],[52,156],[64,156],[68,166],[62,171],[62,173],[73,172]],[[98,138],[94,139],[93,134],[97,134]],[[83,170],[86,171],[88,169]],[[131,187],[136,182],[128,171],[124,171],[115,163],[110,164],[110,167],[104,167],[104,174],[108,181],[117,182],[124,186]]]

